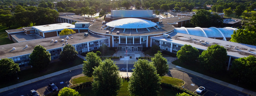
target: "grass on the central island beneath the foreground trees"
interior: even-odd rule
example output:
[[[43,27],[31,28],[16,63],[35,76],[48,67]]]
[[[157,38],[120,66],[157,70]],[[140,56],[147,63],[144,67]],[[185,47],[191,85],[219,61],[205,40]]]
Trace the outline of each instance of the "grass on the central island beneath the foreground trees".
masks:
[[[88,79],[87,79],[88,78]],[[72,81],[87,81],[87,80],[92,80],[90,77],[87,76],[82,76],[82,77],[78,77],[78,78],[74,78],[72,79]],[[81,82],[77,82],[77,83],[81,83]],[[168,76],[163,76],[161,83],[167,83],[167,84],[174,84],[174,85],[178,85],[181,86],[183,85],[183,81],[181,79],[177,79],[177,78],[173,78],[173,77],[168,77]],[[75,83],[74,83],[75,84]],[[77,90],[79,92],[80,96],[95,96],[95,94],[92,92],[92,87],[86,87],[80,90]],[[171,89],[166,89],[163,88],[160,91],[160,96],[175,96],[175,94],[177,94],[178,92],[173,91]],[[128,81],[124,80],[123,85],[121,86],[121,89],[118,91],[117,96],[129,96],[129,92],[128,92]]]

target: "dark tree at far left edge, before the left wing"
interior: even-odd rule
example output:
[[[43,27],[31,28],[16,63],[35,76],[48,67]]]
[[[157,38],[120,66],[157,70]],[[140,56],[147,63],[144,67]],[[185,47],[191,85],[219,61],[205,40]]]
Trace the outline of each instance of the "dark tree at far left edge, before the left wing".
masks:
[[[0,77],[11,76],[16,72],[20,72],[19,64],[14,63],[14,61],[9,58],[0,60]]]

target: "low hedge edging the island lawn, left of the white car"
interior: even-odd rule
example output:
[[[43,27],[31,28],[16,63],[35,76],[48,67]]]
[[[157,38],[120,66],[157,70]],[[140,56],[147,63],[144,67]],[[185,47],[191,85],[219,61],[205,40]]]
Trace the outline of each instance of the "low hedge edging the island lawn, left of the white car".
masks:
[[[177,85],[161,83],[161,87],[167,88],[167,89],[172,89],[172,90],[175,90],[175,91],[180,92],[180,93],[185,92],[185,93],[187,93],[189,95],[192,95],[192,96],[200,96],[200,95],[198,95],[198,94],[196,94],[194,92],[191,92],[191,91],[189,91],[187,89],[181,88],[180,86],[177,86]]]

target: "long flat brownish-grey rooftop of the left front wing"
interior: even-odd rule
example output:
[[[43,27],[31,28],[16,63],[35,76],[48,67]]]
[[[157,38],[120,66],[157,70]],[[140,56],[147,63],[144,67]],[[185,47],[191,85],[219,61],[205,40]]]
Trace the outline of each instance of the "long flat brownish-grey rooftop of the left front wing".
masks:
[[[49,37],[49,38],[44,38],[44,39],[38,39],[38,40],[31,40],[31,41],[26,41],[26,42],[20,42],[20,43],[13,43],[13,44],[6,44],[6,45],[0,45],[0,58],[10,58],[10,57],[15,57],[15,56],[20,56],[20,55],[25,55],[25,54],[30,54],[33,52],[34,47],[36,45],[42,45],[46,49],[54,49],[54,48],[60,48],[64,47],[61,42],[61,39],[66,39],[66,36],[69,36],[70,39],[68,39],[68,44],[80,44],[84,42],[90,42],[94,40],[99,40],[99,39],[104,39],[104,38],[109,38],[105,36],[97,36],[89,33],[89,36],[84,36],[84,33],[76,33],[73,34],[72,36],[70,35],[65,35],[65,36],[55,36],[55,37]],[[71,37],[73,37],[71,39]],[[57,43],[52,42],[53,40],[58,40]],[[66,44],[66,43],[65,43]],[[26,48],[25,45],[28,45]],[[15,50],[12,50],[12,47],[15,47]]]

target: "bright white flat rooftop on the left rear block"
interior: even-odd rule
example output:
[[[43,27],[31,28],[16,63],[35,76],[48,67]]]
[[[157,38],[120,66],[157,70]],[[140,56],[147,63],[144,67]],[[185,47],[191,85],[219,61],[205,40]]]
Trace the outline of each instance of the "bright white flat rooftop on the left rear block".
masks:
[[[69,23],[58,23],[58,24],[49,24],[49,25],[41,25],[41,26],[33,26],[33,28],[37,28],[41,31],[51,31],[65,28],[75,28],[75,25]]]

